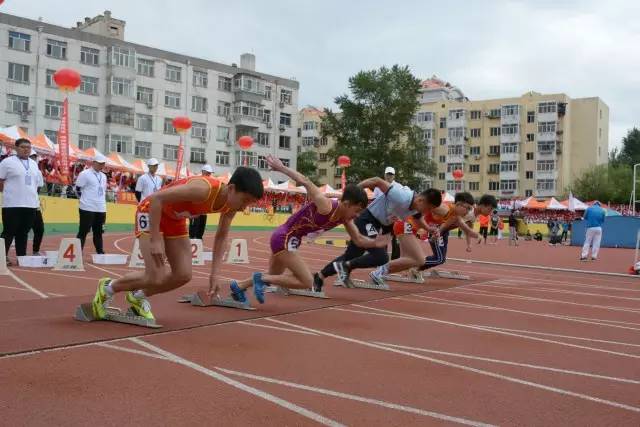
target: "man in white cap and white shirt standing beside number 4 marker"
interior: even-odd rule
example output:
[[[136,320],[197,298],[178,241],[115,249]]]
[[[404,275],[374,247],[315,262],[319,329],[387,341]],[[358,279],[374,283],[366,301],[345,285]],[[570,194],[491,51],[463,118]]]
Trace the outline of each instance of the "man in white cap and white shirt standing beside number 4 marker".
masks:
[[[84,241],[91,230],[98,254],[104,253],[102,233],[107,219],[107,176],[102,173],[106,161],[106,157],[98,154],[93,158],[92,166],[80,172],[76,180],[76,191],[80,194],[80,228],[76,237],[84,249]]]

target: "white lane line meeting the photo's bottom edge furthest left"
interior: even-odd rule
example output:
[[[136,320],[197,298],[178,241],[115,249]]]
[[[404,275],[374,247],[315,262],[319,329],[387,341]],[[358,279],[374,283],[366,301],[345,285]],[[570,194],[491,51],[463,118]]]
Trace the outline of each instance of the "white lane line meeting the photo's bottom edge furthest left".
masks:
[[[143,341],[141,339],[138,338],[130,338],[131,341],[135,342],[136,344],[145,347],[163,357],[165,357],[166,359],[168,359],[171,362],[177,363],[179,365],[182,366],[186,366],[187,368],[191,368],[194,371],[200,372],[201,374],[207,375],[208,377],[211,377],[215,380],[218,380],[220,382],[223,382],[227,385],[230,385],[232,387],[235,387],[239,390],[242,390],[246,393],[252,394],[256,397],[259,397],[261,399],[264,399],[268,402],[274,403],[278,406],[281,406],[285,409],[288,409],[289,411],[295,412],[298,415],[302,415],[303,417],[309,418],[312,421],[315,421],[319,424],[323,424],[326,426],[334,426],[334,427],[342,427],[343,424],[332,420],[330,418],[326,418],[316,412],[310,411],[306,408],[303,408],[302,406],[298,406],[295,403],[291,403],[287,400],[281,399],[277,396],[274,396],[272,394],[269,394],[267,392],[264,392],[262,390],[258,390],[257,388],[245,385],[239,381],[236,381],[232,378],[227,377],[226,375],[222,375],[219,372],[216,371],[212,371],[211,369],[205,368],[202,365],[198,365],[197,363],[194,363],[190,360],[184,359],[180,356],[178,356],[177,354],[173,354],[167,350],[164,350],[160,347],[157,347],[153,344],[149,344],[146,341]]]

